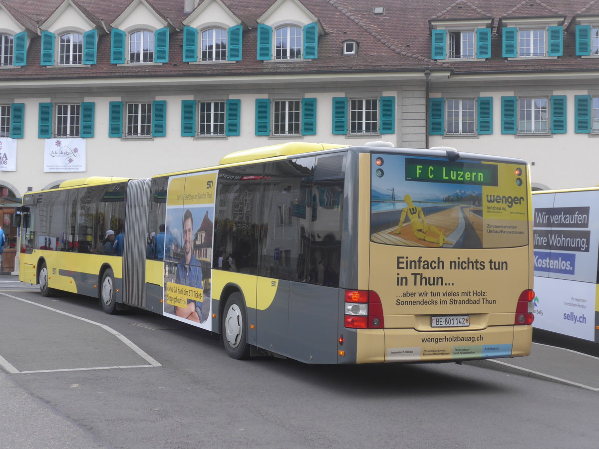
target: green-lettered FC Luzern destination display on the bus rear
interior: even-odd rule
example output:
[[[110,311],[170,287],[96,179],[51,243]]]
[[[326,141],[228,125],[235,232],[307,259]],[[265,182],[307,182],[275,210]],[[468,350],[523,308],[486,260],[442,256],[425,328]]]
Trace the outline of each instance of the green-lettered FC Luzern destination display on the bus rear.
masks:
[[[406,181],[497,186],[497,165],[406,158]]]

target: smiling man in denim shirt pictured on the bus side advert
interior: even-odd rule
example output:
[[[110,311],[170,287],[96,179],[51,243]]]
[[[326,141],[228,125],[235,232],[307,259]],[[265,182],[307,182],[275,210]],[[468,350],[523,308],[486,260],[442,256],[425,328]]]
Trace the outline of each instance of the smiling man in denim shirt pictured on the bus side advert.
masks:
[[[183,214],[183,257],[177,264],[175,283],[196,289],[204,288],[202,285],[202,268],[199,266],[199,260],[193,257],[193,216],[189,209]],[[178,317],[197,323],[204,323],[208,319],[209,312],[209,298],[205,298],[204,302],[187,298],[187,307],[177,306],[175,308],[175,314]]]

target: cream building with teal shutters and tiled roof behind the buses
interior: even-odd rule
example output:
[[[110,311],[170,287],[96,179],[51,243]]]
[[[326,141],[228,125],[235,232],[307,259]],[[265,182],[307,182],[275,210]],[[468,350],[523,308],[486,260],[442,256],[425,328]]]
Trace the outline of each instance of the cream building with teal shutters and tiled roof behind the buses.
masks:
[[[451,146],[590,186],[598,58],[596,0],[0,0],[0,193],[283,141]]]

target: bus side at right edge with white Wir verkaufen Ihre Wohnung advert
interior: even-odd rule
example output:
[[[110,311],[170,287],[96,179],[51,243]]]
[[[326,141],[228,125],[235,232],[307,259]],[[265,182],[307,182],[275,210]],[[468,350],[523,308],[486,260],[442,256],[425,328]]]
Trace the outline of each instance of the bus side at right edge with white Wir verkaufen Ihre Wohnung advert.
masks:
[[[599,342],[599,187],[533,192],[534,326]]]

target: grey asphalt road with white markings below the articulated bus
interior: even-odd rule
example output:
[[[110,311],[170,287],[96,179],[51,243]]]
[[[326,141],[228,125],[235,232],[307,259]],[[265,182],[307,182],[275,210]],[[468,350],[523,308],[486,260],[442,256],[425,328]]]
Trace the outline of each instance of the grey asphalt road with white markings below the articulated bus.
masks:
[[[586,449],[599,441],[599,393],[500,366],[238,361],[218,336],[144,311],[106,315],[91,298],[43,298],[0,283],[0,305],[2,448]]]

